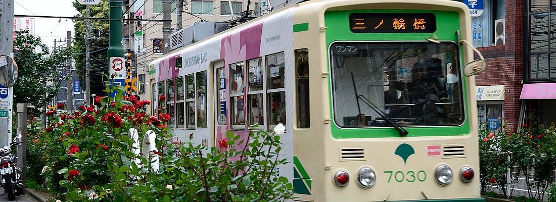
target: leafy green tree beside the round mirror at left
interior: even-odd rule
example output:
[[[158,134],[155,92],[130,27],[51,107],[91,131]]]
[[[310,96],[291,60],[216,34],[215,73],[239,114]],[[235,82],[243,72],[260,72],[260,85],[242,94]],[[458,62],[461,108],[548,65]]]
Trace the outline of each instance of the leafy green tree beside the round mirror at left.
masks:
[[[13,55],[19,68],[18,81],[13,87],[13,103],[43,106],[52,100],[59,86],[56,67],[66,62],[71,49],[50,53],[41,38],[23,30],[17,31]]]

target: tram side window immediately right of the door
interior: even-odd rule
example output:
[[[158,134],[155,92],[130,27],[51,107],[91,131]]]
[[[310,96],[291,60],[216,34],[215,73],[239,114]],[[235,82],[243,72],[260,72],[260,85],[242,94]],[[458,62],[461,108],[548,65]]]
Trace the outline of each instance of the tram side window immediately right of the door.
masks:
[[[230,123],[232,129],[245,129],[244,63],[230,65]]]

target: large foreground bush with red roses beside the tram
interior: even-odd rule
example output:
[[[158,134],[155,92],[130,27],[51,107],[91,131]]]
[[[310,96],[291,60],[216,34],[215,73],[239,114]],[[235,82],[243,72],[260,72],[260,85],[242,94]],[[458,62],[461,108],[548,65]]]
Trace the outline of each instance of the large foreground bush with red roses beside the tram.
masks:
[[[275,169],[281,133],[250,132],[247,140],[226,133],[210,151],[192,142],[172,142],[165,126],[170,116],[147,114],[148,101],[124,97],[121,86],[106,84],[115,98],[97,97],[95,105],[73,113],[52,114],[38,144],[46,186],[68,201],[276,201],[290,199],[292,185]],[[159,98],[163,100],[163,98]],[[281,126],[281,125],[280,125]],[[283,126],[282,126],[283,127]],[[135,155],[128,130],[157,134],[156,150]],[[190,134],[190,140],[194,134]],[[234,145],[235,147],[228,147]],[[140,146],[141,147],[141,146]],[[235,148],[235,149],[232,149]],[[159,166],[151,159],[157,156]],[[151,156],[151,157],[148,157]],[[134,159],[141,163],[136,164]],[[158,169],[156,169],[158,168]],[[156,170],[155,170],[156,169]]]

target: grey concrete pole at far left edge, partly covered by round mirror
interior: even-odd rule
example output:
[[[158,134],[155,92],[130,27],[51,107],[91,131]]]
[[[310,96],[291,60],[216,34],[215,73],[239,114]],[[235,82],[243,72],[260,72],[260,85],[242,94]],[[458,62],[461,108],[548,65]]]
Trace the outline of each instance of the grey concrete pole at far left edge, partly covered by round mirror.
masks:
[[[14,0],[0,0],[0,54],[13,57],[13,8]],[[1,105],[8,109],[8,117],[0,118],[0,145],[8,145],[12,138],[13,88],[7,98],[0,98]]]

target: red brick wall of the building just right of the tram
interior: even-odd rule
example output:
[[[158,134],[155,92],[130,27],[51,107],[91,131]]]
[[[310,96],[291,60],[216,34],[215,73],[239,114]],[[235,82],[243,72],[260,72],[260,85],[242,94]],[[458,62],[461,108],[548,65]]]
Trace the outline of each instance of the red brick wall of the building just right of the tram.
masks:
[[[488,64],[476,85],[504,85],[504,118],[517,129],[523,79],[523,0],[506,0],[505,45],[479,48]]]

